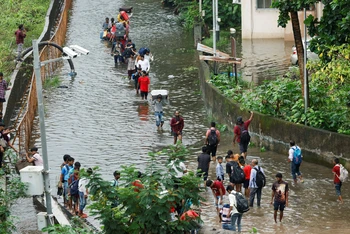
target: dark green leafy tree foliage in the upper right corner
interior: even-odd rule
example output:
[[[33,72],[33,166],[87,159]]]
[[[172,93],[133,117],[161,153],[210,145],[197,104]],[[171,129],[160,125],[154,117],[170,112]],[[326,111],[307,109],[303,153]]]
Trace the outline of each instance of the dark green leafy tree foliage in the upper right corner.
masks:
[[[324,4],[321,19],[309,15],[305,23],[310,36],[314,37],[310,49],[319,54],[323,61],[331,61],[338,56],[331,46],[341,46],[349,43],[350,35],[350,4],[348,1],[321,0]]]

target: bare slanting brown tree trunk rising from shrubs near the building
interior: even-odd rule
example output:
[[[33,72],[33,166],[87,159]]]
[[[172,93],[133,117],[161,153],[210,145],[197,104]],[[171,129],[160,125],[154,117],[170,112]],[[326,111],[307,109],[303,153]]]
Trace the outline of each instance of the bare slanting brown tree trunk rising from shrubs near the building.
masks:
[[[301,93],[304,97],[304,45],[303,45],[303,41],[301,40],[301,31],[300,31],[298,12],[292,11],[290,13],[290,18],[292,21],[294,42],[295,42],[295,47],[297,49],[297,55],[298,55]]]

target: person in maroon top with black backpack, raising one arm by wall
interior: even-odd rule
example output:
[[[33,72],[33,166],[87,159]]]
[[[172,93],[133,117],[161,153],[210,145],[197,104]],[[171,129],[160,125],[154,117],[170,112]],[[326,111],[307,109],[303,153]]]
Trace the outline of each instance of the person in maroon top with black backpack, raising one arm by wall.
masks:
[[[247,158],[247,150],[250,142],[248,127],[253,119],[253,115],[253,111],[250,111],[250,118],[245,122],[243,122],[242,117],[239,116],[237,118],[236,126],[233,129],[233,146],[236,145],[236,142],[239,144],[239,150],[241,152],[241,155],[244,156],[244,159]]]

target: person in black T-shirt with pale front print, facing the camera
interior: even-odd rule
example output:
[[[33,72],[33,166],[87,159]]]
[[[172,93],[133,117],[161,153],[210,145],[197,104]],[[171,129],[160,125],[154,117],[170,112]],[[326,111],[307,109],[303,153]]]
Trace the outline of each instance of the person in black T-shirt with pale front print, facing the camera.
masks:
[[[272,185],[271,205],[273,204],[273,218],[277,223],[277,211],[280,210],[280,222],[283,218],[283,210],[288,206],[288,183],[282,180],[282,174],[276,174],[276,182]]]

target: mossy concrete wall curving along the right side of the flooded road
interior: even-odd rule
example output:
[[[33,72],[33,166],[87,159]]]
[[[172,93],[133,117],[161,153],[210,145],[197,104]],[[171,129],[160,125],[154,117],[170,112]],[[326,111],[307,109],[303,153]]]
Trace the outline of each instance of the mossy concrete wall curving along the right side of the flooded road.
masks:
[[[210,70],[203,61],[200,61],[199,79],[207,110],[218,122],[227,124],[232,130],[238,116],[249,118],[249,113],[242,111],[239,104],[223,96],[216,87],[207,82],[210,79]],[[252,141],[260,147],[287,155],[289,141],[293,139],[302,148],[304,160],[331,165],[332,158],[339,157],[350,169],[348,135],[294,124],[256,112],[249,131]]]

